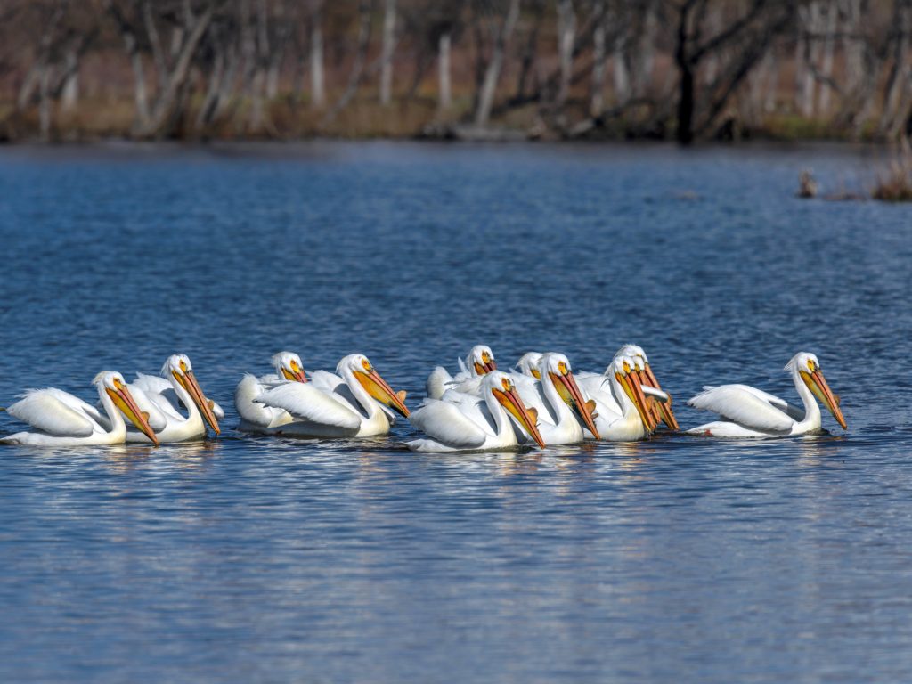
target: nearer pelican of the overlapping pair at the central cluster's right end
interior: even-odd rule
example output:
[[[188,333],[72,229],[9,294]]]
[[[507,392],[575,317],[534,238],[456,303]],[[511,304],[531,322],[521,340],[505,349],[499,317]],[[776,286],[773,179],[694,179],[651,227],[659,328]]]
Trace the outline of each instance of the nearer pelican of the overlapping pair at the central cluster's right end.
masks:
[[[617,356],[602,376],[601,387],[589,383],[586,396],[596,402],[596,427],[602,440],[642,440],[655,430],[656,424],[648,410],[645,388],[637,372],[637,359]],[[607,388],[606,388],[607,386]],[[607,391],[606,391],[607,389]],[[661,390],[648,388],[650,395],[660,401],[668,400]]]

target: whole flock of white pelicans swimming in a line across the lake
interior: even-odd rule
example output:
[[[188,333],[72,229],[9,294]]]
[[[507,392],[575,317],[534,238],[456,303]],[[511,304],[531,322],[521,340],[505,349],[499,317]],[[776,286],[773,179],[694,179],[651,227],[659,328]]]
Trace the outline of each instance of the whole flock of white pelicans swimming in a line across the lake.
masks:
[[[671,396],[662,389],[642,347],[621,347],[603,373],[578,372],[564,354],[529,352],[510,372],[497,368],[491,347],[472,347],[455,375],[434,368],[427,398],[409,411],[363,354],[339,361],[336,373],[305,372],[301,358],[284,351],[275,373],[244,378],[234,390],[239,430],[305,438],[355,438],[389,432],[396,416],[424,433],[411,451],[494,451],[525,444],[583,440],[632,441],[657,430],[678,431]],[[821,430],[819,400],[845,430],[839,399],[814,354],[800,352],[785,366],[803,408],[748,385],[704,387],[689,406],[719,415],[687,434],[711,437],[783,437]],[[48,446],[125,441],[199,440],[207,425],[220,432],[223,409],[206,397],[190,358],[169,357],[159,376],[137,375],[128,384],[114,371],[93,380],[92,406],[60,389],[32,389],[5,409],[31,431],[0,442]]]

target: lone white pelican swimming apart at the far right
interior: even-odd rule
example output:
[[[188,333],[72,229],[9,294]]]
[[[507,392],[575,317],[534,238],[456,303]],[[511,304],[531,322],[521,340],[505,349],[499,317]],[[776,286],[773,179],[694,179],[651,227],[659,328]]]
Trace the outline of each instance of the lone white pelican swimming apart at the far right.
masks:
[[[826,384],[820,361],[814,354],[799,352],[783,369],[792,375],[804,410],[748,385],[710,386],[689,399],[688,406],[713,411],[727,420],[700,425],[688,433],[711,437],[784,437],[817,432],[821,429],[821,415],[814,397],[846,429],[839,400]]]

